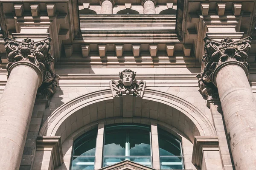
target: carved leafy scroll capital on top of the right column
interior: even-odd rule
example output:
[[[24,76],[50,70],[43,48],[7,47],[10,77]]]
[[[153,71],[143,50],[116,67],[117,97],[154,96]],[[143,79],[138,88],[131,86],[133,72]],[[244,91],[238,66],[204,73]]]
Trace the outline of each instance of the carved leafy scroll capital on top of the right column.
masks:
[[[204,99],[218,99],[218,90],[213,83],[213,73],[218,66],[225,62],[240,62],[249,69],[248,52],[250,50],[250,37],[234,41],[225,38],[221,42],[204,38],[206,53],[202,58],[205,67],[197,75],[200,92]]]

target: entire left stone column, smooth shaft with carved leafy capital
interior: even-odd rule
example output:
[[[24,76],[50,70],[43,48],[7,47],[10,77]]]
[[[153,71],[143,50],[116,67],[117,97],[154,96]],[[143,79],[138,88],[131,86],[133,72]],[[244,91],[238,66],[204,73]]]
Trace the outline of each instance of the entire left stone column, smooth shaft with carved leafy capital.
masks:
[[[9,78],[0,99],[0,169],[18,170],[35,99],[54,93],[58,75],[51,69],[49,37],[40,42],[5,41]]]

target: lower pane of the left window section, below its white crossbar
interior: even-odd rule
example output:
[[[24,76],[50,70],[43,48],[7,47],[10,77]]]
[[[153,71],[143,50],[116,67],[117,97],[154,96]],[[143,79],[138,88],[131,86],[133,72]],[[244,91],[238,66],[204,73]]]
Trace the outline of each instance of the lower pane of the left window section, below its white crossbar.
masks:
[[[93,170],[95,157],[73,157],[72,170]]]

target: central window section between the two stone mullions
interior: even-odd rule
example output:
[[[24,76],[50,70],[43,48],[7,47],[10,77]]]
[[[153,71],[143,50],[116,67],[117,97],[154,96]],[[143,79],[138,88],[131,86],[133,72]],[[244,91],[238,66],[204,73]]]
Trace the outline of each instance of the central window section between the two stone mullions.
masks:
[[[150,128],[139,125],[106,127],[103,167],[130,160],[151,167]]]

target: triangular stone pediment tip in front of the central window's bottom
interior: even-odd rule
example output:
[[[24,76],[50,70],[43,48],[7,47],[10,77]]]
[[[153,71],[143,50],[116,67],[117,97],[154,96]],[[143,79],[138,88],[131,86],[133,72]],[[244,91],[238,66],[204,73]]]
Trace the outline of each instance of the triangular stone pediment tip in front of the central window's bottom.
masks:
[[[151,167],[146,167],[144,165],[135,163],[133,161],[125,160],[125,161],[110,165],[108,167],[103,167],[99,170],[155,170],[155,169]]]

